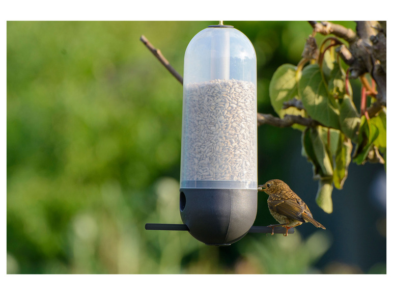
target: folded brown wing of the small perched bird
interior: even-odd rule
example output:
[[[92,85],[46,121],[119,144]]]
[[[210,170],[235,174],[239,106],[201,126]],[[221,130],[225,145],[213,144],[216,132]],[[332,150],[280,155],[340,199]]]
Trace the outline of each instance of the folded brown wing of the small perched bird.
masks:
[[[279,199],[272,196],[269,202],[270,210],[282,214],[288,218],[292,218],[301,222],[305,222],[302,213],[306,211],[307,205],[300,198]],[[310,210],[308,210],[310,212]]]

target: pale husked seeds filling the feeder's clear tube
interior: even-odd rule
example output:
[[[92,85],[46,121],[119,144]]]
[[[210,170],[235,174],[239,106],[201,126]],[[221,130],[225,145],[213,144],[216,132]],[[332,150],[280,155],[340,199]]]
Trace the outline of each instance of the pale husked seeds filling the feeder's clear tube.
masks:
[[[184,93],[182,180],[256,182],[255,85],[215,79]]]

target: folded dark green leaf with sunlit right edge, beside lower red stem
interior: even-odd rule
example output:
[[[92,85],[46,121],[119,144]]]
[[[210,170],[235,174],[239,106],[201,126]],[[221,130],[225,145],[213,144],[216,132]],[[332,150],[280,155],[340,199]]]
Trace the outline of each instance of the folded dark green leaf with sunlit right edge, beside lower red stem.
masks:
[[[367,156],[373,148],[373,142],[378,138],[378,133],[377,126],[371,120],[369,122],[366,117],[362,116],[353,162],[358,165],[366,162]]]

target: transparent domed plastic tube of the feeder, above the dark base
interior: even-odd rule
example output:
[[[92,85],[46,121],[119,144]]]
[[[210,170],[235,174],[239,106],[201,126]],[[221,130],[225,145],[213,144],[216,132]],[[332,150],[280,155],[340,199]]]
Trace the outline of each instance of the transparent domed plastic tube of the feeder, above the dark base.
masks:
[[[257,189],[257,59],[248,38],[212,26],[184,57],[181,188]]]

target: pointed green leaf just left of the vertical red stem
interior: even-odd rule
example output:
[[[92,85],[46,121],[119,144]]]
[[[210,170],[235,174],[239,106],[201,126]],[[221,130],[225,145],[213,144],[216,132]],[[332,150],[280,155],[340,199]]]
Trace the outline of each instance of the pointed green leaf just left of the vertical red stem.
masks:
[[[340,105],[341,131],[354,142],[357,142],[356,131],[360,124],[360,116],[357,113],[352,99],[345,94]]]

